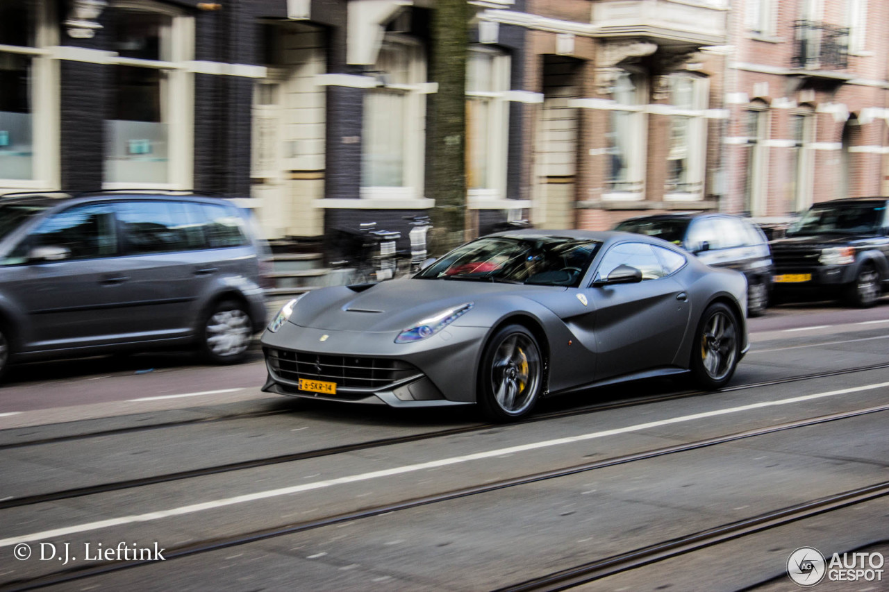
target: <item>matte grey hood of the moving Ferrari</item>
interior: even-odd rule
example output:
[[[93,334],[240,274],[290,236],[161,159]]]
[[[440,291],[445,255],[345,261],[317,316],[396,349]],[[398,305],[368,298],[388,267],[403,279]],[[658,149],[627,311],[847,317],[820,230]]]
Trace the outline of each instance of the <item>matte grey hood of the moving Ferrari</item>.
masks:
[[[388,280],[364,286],[322,288],[301,298],[290,317],[292,324],[324,331],[400,332],[423,319],[468,302],[502,296],[533,297],[562,287],[488,284],[460,280]],[[461,316],[458,324],[482,326],[473,315]]]

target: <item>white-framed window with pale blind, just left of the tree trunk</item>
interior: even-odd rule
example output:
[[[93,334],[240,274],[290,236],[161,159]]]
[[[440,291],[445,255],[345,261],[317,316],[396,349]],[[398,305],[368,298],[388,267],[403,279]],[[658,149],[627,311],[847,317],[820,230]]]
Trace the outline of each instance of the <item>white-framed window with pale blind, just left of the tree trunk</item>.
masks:
[[[380,48],[374,66],[378,86],[364,94],[364,197],[420,197],[425,95],[418,84],[425,80],[422,66],[420,46],[401,36],[389,38]]]

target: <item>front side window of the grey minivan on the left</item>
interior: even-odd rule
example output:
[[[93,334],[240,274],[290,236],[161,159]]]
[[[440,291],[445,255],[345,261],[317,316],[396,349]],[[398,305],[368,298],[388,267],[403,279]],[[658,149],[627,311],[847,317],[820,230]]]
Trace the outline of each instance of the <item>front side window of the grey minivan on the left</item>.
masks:
[[[67,256],[60,260],[114,257],[117,254],[114,211],[108,204],[90,204],[54,214],[25,238],[6,262],[22,263],[28,252],[38,247],[67,249]]]

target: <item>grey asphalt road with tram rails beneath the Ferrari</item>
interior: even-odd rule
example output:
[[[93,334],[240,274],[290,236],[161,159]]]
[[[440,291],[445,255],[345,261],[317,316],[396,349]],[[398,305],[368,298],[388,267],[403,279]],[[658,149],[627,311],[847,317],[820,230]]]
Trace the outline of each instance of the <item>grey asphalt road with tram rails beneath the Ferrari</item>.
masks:
[[[797,548],[887,554],[887,328],[889,302],[772,308],[729,388],[640,381],[509,426],[268,396],[258,352],[22,366],[0,588],[798,589]]]

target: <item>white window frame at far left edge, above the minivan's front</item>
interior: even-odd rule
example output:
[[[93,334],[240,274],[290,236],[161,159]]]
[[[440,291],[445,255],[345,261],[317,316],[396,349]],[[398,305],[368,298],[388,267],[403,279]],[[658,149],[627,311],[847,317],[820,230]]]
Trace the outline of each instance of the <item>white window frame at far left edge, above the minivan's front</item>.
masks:
[[[0,53],[30,56],[34,84],[31,179],[0,179],[0,193],[60,187],[60,68],[50,49],[59,43],[54,5],[49,0],[36,0],[33,4],[36,17],[34,46],[0,45]]]

